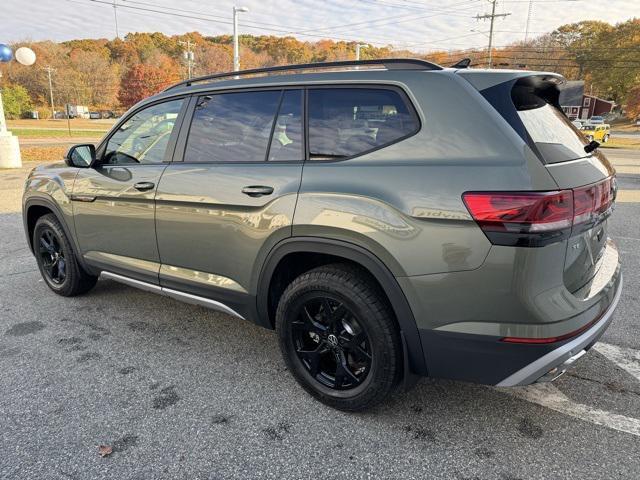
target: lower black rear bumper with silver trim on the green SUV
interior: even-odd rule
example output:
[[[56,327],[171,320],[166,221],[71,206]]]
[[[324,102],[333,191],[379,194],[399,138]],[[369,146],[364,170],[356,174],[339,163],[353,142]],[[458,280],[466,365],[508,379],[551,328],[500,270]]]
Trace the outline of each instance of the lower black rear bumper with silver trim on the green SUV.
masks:
[[[428,375],[501,387],[554,380],[610,325],[622,293],[622,274],[616,280],[598,320],[579,335],[560,342],[517,344],[503,342],[499,336],[420,329]]]

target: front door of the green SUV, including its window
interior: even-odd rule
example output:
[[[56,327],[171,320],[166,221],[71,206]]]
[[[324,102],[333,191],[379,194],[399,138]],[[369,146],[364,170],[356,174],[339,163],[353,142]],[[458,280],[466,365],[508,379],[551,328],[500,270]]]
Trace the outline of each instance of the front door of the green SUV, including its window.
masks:
[[[134,112],[98,149],[96,165],[80,170],[72,201],[87,263],[158,283],[154,198],[184,103],[174,99]]]

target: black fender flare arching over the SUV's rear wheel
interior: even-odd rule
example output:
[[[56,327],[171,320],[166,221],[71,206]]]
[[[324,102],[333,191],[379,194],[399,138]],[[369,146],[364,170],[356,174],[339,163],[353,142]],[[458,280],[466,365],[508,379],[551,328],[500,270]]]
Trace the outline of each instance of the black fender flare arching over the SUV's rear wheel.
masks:
[[[268,320],[268,296],[269,284],[273,273],[280,263],[280,260],[286,255],[301,252],[323,253],[346,258],[360,264],[368,270],[384,289],[400,326],[406,364],[405,377],[407,377],[408,373],[418,375],[427,374],[427,366],[418,327],[409,302],[396,278],[387,266],[373,253],[349,242],[315,237],[291,237],[282,240],[274,246],[267,255],[258,278],[256,307],[258,310],[258,318],[264,322],[264,326],[271,328]],[[406,367],[409,367],[411,371],[407,372]]]

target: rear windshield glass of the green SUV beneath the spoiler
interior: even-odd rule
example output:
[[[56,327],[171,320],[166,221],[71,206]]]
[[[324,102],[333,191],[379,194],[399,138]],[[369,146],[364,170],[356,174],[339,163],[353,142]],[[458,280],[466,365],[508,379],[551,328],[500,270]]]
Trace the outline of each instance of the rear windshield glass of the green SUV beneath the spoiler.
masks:
[[[565,162],[588,156],[582,135],[565,114],[547,100],[547,92],[518,84],[511,92],[520,120],[545,162]]]

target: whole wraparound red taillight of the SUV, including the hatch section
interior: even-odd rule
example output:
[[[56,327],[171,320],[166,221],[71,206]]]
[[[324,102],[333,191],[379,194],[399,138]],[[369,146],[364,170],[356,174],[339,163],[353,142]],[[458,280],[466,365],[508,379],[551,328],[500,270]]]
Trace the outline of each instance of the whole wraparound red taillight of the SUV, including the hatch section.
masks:
[[[466,192],[469,213],[491,243],[540,247],[590,225],[613,203],[612,180],[553,192]]]

